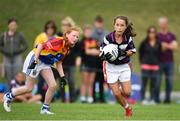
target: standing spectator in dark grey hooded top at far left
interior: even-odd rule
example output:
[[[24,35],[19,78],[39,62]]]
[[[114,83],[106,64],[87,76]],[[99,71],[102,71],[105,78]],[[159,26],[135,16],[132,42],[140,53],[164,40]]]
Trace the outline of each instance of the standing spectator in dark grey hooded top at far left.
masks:
[[[17,31],[17,20],[8,20],[8,30],[0,36],[0,52],[4,58],[5,78],[8,86],[22,68],[22,53],[28,48],[24,35]]]

